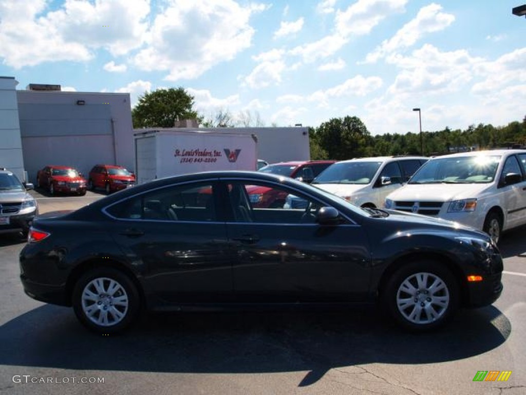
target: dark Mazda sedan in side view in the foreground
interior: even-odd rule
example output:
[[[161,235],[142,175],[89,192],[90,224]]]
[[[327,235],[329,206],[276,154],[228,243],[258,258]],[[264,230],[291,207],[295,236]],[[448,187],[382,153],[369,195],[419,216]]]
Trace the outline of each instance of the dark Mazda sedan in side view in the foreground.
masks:
[[[255,207],[254,186],[306,207]],[[424,331],[502,292],[502,259],[485,233],[362,209],[261,172],[169,177],[37,217],[19,259],[29,297],[72,306],[100,333],[122,331],[141,310],[358,303]]]

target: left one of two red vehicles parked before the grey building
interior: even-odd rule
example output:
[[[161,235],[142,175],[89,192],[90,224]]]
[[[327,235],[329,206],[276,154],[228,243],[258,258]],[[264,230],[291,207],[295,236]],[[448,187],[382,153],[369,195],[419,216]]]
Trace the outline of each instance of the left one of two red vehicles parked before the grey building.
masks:
[[[36,186],[47,188],[50,194],[86,194],[86,180],[76,169],[69,166],[46,166],[36,173]]]

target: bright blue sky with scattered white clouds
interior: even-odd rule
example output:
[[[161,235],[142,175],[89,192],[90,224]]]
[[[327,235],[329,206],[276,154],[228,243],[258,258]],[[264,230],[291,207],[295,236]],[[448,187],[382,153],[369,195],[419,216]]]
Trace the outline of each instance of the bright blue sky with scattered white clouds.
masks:
[[[526,116],[526,0],[0,0],[0,76],[371,135]]]

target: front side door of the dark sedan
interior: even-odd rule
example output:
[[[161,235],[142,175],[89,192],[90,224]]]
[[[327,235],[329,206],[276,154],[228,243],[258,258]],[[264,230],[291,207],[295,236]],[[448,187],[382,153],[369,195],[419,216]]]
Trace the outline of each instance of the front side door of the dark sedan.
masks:
[[[356,301],[369,290],[369,245],[361,226],[319,225],[327,204],[295,189],[262,181],[226,181],[232,218],[227,235],[239,302]],[[246,190],[265,186],[294,194],[307,209],[256,208]]]

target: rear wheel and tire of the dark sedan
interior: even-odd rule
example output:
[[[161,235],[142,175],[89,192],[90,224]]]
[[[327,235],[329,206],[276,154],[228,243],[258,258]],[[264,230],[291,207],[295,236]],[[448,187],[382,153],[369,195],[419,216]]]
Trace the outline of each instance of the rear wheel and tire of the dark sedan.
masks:
[[[102,291],[95,288],[95,283]],[[112,294],[107,294],[110,285]],[[90,291],[95,299],[89,298]],[[100,334],[117,333],[128,328],[139,313],[140,298],[130,278],[116,269],[96,268],[76,282],[72,295],[78,320],[89,330]],[[90,314],[91,312],[91,314]]]

